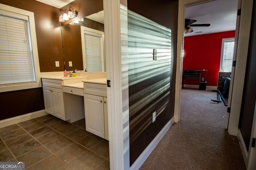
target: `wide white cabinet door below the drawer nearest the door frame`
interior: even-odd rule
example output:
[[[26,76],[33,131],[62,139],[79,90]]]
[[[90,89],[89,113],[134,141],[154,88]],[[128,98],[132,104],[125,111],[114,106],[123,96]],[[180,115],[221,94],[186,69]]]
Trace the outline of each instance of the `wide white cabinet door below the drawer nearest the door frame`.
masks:
[[[86,130],[105,138],[103,97],[84,94],[84,112]]]

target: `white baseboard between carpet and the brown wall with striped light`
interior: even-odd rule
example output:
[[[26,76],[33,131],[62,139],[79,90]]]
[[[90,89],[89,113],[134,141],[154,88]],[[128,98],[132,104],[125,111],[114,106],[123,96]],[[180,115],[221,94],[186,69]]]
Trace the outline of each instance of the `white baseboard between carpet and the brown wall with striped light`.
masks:
[[[164,137],[166,132],[174,123],[174,117],[162,128],[162,130],[156,135],[156,137],[152,140],[152,142],[148,145],[148,147],[140,154],[137,160],[132,164],[130,170],[138,170],[140,166],[145,162],[151,152],[154,150],[156,145],[160,142],[160,140]]]

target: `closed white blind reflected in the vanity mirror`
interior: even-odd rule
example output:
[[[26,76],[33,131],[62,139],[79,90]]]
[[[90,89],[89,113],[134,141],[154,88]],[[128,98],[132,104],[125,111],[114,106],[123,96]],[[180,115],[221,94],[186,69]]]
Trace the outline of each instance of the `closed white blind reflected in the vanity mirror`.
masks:
[[[92,32],[85,32],[86,65],[88,71],[102,72],[102,35]]]

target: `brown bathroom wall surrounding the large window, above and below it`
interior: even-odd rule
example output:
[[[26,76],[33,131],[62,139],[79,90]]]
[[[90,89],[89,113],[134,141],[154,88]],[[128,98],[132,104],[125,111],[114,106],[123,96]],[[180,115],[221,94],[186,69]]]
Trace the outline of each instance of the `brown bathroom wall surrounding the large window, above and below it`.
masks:
[[[6,4],[34,12],[40,71],[64,71],[60,9],[36,0],[0,0]],[[55,67],[60,61],[60,67]],[[41,88],[0,93],[0,120],[44,109]]]

